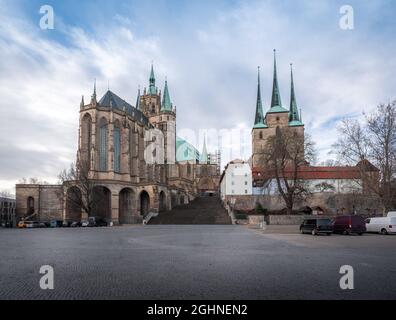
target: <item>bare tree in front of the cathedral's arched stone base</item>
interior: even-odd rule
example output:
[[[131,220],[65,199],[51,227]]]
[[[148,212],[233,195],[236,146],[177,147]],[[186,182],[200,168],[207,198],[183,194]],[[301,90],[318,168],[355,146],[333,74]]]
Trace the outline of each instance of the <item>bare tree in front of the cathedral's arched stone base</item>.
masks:
[[[97,184],[90,175],[89,161],[71,164],[69,170],[63,170],[58,178],[59,184],[67,189],[67,204],[74,208],[80,208],[88,216],[92,216],[101,205],[105,195],[101,188],[96,188]],[[63,198],[63,193],[59,194],[59,197]]]

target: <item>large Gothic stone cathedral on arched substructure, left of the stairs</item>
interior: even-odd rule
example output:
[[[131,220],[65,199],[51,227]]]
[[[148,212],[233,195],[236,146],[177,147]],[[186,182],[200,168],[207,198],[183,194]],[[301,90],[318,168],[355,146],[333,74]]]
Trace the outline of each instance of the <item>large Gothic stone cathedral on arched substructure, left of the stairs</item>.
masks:
[[[151,66],[149,86],[136,105],[108,90],[97,99],[96,83],[88,104],[80,104],[77,164],[87,167],[92,215],[113,224],[141,223],[202,194],[218,192],[220,164],[211,161],[204,142],[200,154],[176,135],[176,107],[168,81],[158,89]],[[17,219],[80,221],[88,218],[77,183],[16,186]]]

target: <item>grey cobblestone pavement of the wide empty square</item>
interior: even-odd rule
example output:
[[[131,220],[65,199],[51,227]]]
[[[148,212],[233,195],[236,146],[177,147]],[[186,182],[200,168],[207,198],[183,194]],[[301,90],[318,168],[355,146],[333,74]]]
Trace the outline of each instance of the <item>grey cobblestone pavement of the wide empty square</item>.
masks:
[[[232,225],[0,229],[0,299],[396,299],[395,248]],[[39,288],[42,265],[54,290]],[[354,290],[339,287],[342,265]]]

